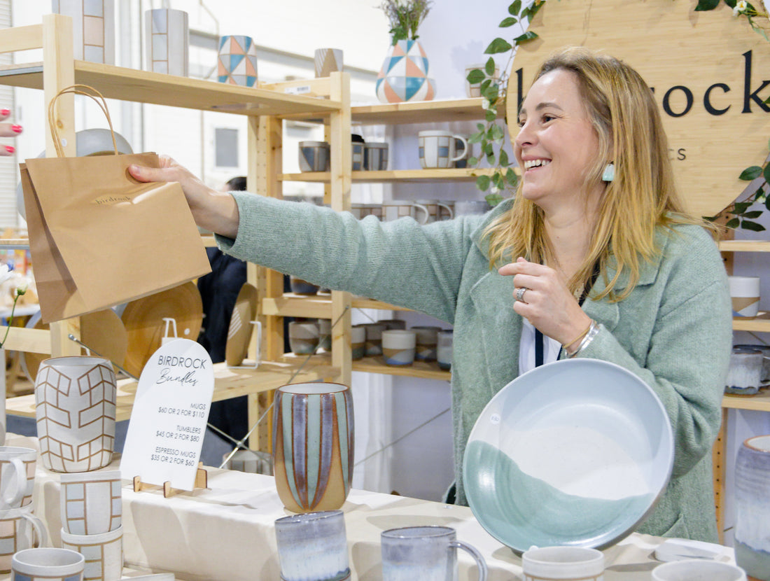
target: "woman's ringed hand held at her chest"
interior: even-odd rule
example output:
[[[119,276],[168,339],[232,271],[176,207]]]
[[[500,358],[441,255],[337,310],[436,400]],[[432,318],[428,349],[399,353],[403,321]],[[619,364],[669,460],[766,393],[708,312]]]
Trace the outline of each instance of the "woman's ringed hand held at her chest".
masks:
[[[554,269],[520,257],[497,272],[514,277],[514,311],[551,339],[565,345],[591,325],[591,318]],[[576,346],[569,347],[574,352]]]

